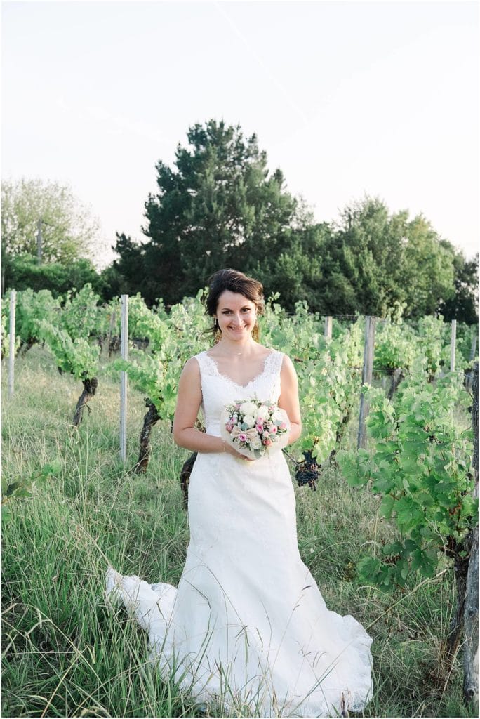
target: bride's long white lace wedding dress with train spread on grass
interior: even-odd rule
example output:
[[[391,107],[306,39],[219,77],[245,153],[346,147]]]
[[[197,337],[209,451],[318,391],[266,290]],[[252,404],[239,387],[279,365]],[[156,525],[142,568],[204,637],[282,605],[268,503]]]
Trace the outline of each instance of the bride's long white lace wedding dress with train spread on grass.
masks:
[[[280,395],[282,353],[246,386],[195,356],[208,434],[226,403]],[[337,716],[371,698],[371,638],[326,608],[300,559],[295,494],[282,452],[254,462],[198,454],[190,477],[190,545],[177,589],[110,568],[107,596],[149,632],[152,660],[217,715]],[[208,710],[212,715],[212,708]],[[215,709],[213,709],[215,711]]]

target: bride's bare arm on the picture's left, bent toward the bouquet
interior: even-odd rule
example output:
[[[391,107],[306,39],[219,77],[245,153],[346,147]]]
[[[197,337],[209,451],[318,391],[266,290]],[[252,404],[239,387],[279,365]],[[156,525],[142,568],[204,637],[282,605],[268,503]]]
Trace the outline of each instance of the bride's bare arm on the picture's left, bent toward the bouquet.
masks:
[[[202,383],[200,367],[194,357],[190,357],[183,367],[178,380],[177,406],[173,419],[173,441],[191,452],[228,452],[236,457],[241,455],[221,437],[206,434],[196,429],[198,410],[202,401]]]

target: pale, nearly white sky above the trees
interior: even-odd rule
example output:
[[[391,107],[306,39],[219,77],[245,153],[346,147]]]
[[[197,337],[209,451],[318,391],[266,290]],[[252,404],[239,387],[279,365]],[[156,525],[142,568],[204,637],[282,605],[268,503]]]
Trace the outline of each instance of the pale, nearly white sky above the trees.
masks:
[[[68,183],[98,266],[211,118],[256,133],[316,221],[378,196],[478,251],[476,1],[4,0],[1,39],[2,178]]]

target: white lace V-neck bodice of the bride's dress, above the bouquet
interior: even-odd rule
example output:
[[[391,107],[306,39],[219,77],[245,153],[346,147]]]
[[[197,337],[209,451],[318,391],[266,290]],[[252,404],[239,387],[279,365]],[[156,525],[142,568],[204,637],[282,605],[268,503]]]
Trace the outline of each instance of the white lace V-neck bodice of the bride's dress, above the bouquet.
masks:
[[[283,354],[272,349],[264,361],[262,372],[247,385],[237,385],[222,375],[216,360],[207,352],[195,354],[202,380],[203,417],[208,434],[220,436],[220,415],[227,404],[236,400],[257,398],[263,402],[277,402],[280,397],[280,370]]]

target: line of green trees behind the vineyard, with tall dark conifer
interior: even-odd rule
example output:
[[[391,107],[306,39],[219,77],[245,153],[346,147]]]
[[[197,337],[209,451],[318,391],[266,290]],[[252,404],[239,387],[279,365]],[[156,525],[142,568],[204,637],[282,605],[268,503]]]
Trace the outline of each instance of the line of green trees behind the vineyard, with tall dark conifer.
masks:
[[[214,119],[193,125],[172,167],[160,160],[156,170],[142,239],[117,233],[116,259],[101,273],[86,257],[94,233],[81,212],[72,223],[76,234],[64,217],[55,226],[52,213],[40,265],[32,220],[14,201],[19,187],[6,183],[4,289],[62,293],[90,282],[105,300],[140,292],[150,306],[158,298],[168,306],[195,296],[218,267],[233,267],[261,280],[267,296],[280,292],[287,310],[306,300],[322,314],[385,316],[400,306],[406,317],[478,321],[478,255],[466,260],[425,216],[392,213],[378,197],[351,203],[337,221],[315,222],[282,171],[269,170],[257,136],[244,137],[239,126]],[[29,208],[38,215],[34,202]]]

